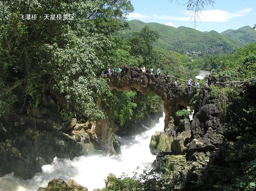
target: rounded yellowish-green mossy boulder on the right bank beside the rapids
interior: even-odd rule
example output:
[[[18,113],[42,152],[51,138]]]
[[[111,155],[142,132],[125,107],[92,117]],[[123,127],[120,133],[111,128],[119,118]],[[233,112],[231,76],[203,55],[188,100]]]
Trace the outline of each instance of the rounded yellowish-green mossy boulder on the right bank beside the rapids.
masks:
[[[151,154],[161,156],[171,153],[172,141],[173,138],[169,133],[156,132],[152,135],[149,145]]]

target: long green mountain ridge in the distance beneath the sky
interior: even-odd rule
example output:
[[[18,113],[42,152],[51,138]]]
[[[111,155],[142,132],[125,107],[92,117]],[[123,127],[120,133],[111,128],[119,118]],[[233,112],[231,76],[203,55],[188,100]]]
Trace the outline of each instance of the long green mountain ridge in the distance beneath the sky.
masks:
[[[154,43],[155,46],[180,53],[192,51],[200,51],[203,54],[231,53],[239,47],[256,40],[256,31],[253,31],[249,26],[218,33],[216,31],[201,32],[184,26],[174,28],[159,23],[144,23],[139,20],[126,22],[130,25],[130,29],[123,31],[126,36],[130,36],[133,31],[140,31],[144,26],[148,26],[151,30],[159,32],[159,39]]]

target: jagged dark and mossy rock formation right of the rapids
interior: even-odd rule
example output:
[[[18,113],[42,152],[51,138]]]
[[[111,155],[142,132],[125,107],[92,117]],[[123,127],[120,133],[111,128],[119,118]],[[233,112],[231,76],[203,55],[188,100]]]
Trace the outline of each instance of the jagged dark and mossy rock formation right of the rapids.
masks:
[[[201,89],[198,112],[191,124],[183,121],[165,132],[156,132],[151,138],[151,153],[157,155],[154,167],[162,171],[168,169],[170,177],[181,178],[181,188],[196,186],[191,181],[203,182],[204,169],[211,164],[223,143],[225,132],[220,125],[220,112],[216,105],[205,104],[207,95],[208,89]]]

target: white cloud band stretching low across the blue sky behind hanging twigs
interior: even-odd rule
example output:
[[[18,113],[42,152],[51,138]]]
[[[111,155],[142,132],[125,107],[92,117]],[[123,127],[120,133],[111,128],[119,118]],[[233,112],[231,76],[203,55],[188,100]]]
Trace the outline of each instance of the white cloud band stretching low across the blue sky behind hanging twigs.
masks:
[[[240,11],[237,11],[235,13],[230,13],[227,11],[222,10],[207,10],[202,11],[201,14],[199,14],[199,18],[197,18],[198,21],[204,21],[204,22],[227,22],[232,18],[235,17],[241,17],[245,16],[249,12],[252,11],[252,8],[245,8]],[[191,17],[191,12],[189,11],[182,11],[182,13],[185,16],[169,16],[169,15],[142,15],[139,13],[130,13],[130,15],[127,16],[128,19],[139,19],[142,21],[148,20],[148,19],[162,19],[162,20],[173,20],[173,21],[193,21],[193,17]],[[169,25],[167,23],[166,25]]]

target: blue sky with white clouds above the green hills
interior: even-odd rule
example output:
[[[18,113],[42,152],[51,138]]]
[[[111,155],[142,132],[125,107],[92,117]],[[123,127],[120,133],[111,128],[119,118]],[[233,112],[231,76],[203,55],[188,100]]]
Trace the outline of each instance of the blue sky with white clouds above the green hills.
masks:
[[[200,15],[200,22],[194,26],[190,11],[186,10],[187,0],[131,0],[133,13],[128,20],[138,19],[145,23],[161,23],[169,26],[186,26],[199,31],[223,32],[256,24],[256,0],[215,0],[214,7],[209,5]]]

